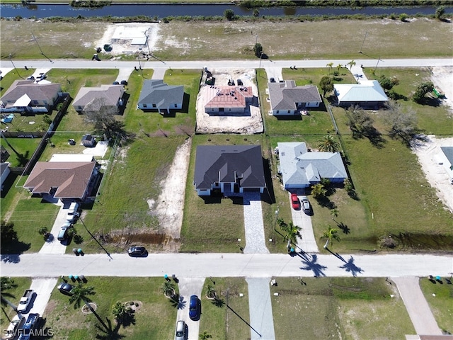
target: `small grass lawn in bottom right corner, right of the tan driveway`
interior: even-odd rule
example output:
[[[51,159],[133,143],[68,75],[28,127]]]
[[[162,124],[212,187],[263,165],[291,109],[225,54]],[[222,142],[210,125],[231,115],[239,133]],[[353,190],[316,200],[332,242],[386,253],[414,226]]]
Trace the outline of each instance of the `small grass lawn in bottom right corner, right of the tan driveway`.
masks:
[[[450,277],[451,279],[451,277]],[[420,278],[420,288],[425,295],[425,299],[430,305],[432,314],[442,331],[453,333],[453,289],[452,285],[447,285],[445,278],[443,284],[432,283],[428,278]]]

